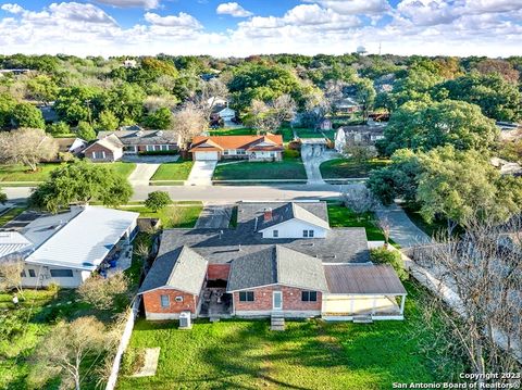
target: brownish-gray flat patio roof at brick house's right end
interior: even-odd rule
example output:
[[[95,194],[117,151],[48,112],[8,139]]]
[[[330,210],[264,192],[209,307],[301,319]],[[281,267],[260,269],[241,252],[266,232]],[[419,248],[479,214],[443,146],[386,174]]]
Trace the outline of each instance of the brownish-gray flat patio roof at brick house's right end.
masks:
[[[331,293],[406,294],[395,269],[388,264],[324,264]]]

